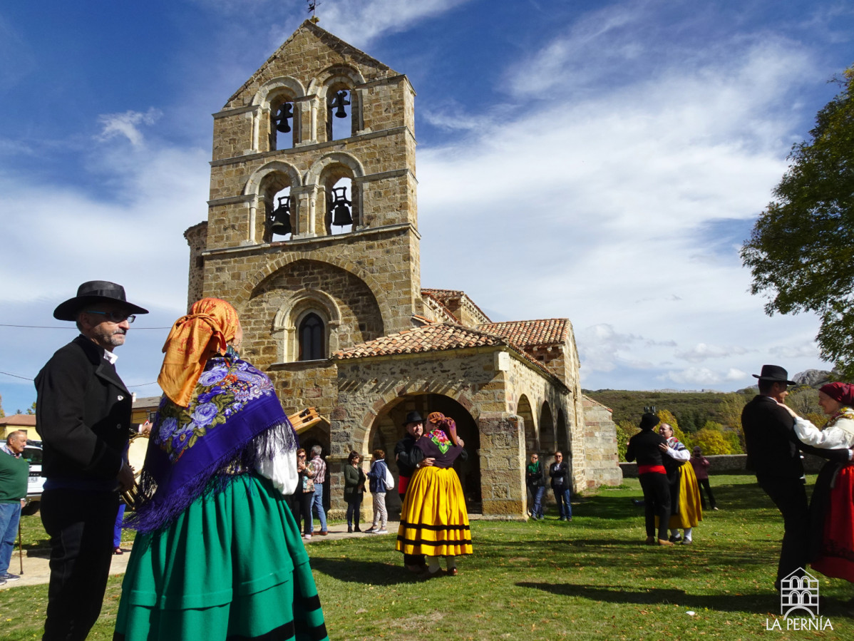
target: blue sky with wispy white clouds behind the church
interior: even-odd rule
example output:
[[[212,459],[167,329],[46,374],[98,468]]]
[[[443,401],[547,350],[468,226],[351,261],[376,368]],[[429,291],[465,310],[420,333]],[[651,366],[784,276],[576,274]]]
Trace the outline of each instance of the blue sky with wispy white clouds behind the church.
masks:
[[[494,321],[570,318],[590,389],[826,367],[816,318],[764,315],[738,247],[854,62],[851,3],[325,0],[318,15],[418,92],[422,285]],[[210,115],[306,17],[301,0],[0,4],[7,414],[73,338],[51,312],[88,279],[151,310],[119,369],[159,393],[182,233],[207,216]]]

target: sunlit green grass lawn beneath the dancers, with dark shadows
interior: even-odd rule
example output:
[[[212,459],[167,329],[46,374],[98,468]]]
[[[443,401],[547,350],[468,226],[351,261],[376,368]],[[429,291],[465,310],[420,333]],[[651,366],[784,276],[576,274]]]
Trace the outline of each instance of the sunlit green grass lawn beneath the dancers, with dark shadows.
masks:
[[[834,630],[766,631],[780,616],[773,588],[781,516],[752,477],[712,477],[721,510],[708,512],[692,546],[643,544],[637,480],[530,523],[472,521],[475,553],[459,576],[412,578],[395,537],[308,545],[332,639],[854,638],[854,585],[821,579],[822,615]],[[38,516],[25,544],[43,545]],[[121,577],[110,579],[90,639],[109,639]],[[0,591],[3,638],[41,637],[47,585]],[[689,615],[688,612],[693,612]]]

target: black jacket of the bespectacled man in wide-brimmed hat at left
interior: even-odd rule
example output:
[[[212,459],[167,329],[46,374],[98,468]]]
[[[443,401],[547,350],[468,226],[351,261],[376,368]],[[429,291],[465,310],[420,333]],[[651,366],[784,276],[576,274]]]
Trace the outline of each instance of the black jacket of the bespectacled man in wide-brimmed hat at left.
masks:
[[[131,428],[131,392],[85,336],[57,350],[36,377],[42,476],[110,479]]]

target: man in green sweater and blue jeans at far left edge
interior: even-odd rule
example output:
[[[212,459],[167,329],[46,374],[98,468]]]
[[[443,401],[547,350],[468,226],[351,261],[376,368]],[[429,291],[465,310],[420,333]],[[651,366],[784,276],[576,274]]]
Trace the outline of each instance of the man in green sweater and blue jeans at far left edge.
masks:
[[[9,572],[15,536],[18,533],[20,509],[26,503],[26,482],[30,463],[21,456],[26,446],[26,432],[9,432],[6,444],[0,445],[0,585],[20,576]]]

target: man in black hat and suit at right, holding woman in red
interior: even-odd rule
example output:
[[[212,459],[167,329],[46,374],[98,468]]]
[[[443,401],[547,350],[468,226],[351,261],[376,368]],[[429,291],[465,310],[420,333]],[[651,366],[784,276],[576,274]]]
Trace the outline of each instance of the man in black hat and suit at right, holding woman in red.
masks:
[[[801,443],[794,431],[794,420],[786,409],[788,373],[777,365],[763,365],[759,393],[741,412],[745,435],[747,469],[756,474],[763,491],[783,515],[783,544],[777,566],[775,587],[781,580],[808,562],[810,519],[806,500],[806,479],[800,451],[832,461],[847,462],[850,450],[821,450]]]

